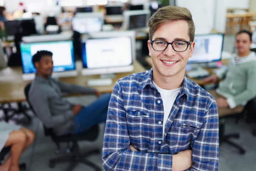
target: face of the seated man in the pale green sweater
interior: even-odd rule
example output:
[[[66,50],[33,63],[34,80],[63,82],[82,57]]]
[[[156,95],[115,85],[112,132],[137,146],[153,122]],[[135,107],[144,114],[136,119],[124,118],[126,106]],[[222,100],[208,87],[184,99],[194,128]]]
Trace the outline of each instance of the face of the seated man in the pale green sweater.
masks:
[[[250,51],[250,36],[247,33],[241,33],[236,36],[235,48],[239,54],[244,54]]]

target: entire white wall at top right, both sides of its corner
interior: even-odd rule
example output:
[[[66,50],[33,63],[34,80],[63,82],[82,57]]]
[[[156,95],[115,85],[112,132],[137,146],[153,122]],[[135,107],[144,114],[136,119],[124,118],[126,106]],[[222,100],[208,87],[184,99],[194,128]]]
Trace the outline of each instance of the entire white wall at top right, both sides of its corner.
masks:
[[[225,32],[227,8],[249,8],[250,0],[176,0],[176,5],[192,13],[196,34],[209,33],[211,29]],[[216,6],[216,7],[215,7]]]

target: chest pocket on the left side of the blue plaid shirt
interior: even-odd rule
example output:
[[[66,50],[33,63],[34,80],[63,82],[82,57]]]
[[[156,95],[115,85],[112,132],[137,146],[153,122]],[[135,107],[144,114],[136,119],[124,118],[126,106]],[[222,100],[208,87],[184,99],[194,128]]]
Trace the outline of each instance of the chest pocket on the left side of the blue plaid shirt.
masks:
[[[151,134],[151,118],[148,111],[141,109],[127,110],[126,119],[130,140],[133,144],[140,144],[141,136],[149,137],[149,134]]]

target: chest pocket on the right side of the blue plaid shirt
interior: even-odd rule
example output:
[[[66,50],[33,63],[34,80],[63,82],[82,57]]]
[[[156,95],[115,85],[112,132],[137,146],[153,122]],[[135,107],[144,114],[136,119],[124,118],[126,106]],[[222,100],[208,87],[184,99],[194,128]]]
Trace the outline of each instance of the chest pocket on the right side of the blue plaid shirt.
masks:
[[[176,151],[190,148],[191,143],[199,134],[200,128],[200,124],[174,121],[167,137],[171,139],[170,146],[174,147]]]

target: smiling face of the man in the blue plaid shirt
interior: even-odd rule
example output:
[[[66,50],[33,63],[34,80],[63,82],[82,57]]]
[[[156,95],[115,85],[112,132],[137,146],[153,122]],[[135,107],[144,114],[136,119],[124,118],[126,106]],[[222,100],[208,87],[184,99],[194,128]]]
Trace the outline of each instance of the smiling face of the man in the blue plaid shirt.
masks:
[[[162,23],[158,26],[152,40],[165,40],[173,42],[175,40],[190,41],[189,27],[187,21],[176,20]],[[153,61],[153,73],[158,77],[172,77],[178,73],[185,73],[185,66],[189,57],[192,56],[195,43],[192,44],[184,52],[174,51],[171,45],[168,45],[164,51],[155,51],[150,41],[148,41],[149,56]],[[175,62],[174,64],[167,64],[166,62]]]

